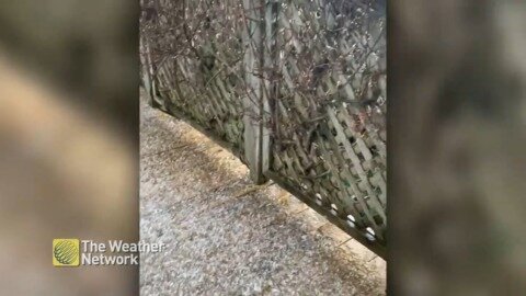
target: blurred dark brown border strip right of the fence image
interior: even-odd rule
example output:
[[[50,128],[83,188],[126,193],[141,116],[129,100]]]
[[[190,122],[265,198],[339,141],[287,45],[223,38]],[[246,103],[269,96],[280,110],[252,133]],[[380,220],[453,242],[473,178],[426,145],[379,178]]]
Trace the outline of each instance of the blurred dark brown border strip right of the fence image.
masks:
[[[388,295],[526,293],[524,18],[388,2]]]

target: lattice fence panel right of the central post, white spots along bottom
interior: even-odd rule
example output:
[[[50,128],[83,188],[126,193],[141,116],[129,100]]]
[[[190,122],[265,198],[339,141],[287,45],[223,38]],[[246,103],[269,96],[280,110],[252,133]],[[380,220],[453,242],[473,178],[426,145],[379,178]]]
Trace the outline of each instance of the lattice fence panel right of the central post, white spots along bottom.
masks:
[[[385,8],[282,1],[271,172],[386,244]]]

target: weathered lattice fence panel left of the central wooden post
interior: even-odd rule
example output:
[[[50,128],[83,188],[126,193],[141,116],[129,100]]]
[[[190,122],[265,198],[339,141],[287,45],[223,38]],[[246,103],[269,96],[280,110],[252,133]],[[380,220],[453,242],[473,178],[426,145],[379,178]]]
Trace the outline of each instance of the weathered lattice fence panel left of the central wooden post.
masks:
[[[243,9],[239,1],[150,1],[142,24],[157,104],[190,118],[243,159]]]

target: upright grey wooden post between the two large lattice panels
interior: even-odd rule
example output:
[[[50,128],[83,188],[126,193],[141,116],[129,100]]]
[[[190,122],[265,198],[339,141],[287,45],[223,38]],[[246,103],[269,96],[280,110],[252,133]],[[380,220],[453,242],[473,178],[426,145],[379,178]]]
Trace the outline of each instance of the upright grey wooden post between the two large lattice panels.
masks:
[[[276,61],[277,2],[243,0],[247,29],[243,44],[248,95],[244,107],[244,151],[255,183],[267,180],[271,159],[271,101],[275,100],[274,64]],[[264,70],[263,70],[264,69]]]

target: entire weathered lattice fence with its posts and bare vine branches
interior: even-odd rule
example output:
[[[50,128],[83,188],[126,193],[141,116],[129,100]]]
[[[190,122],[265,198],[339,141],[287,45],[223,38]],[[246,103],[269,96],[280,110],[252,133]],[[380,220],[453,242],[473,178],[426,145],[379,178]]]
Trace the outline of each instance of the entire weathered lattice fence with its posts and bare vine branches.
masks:
[[[385,255],[384,1],[145,0],[151,104]]]

